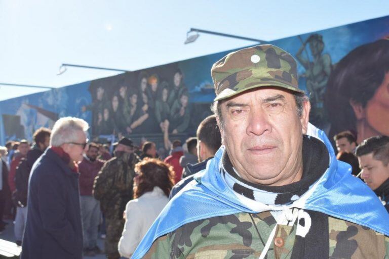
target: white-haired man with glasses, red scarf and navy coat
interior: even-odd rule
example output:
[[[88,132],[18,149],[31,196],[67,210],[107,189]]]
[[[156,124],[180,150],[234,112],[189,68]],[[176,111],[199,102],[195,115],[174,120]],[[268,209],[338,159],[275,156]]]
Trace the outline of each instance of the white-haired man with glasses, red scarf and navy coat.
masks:
[[[83,159],[88,127],[73,117],[54,124],[50,147],[31,170],[22,259],[83,257],[77,162]]]

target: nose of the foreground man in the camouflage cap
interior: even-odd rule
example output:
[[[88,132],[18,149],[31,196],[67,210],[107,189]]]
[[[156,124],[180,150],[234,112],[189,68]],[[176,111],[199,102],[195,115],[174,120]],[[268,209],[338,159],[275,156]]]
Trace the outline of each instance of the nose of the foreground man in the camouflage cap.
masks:
[[[249,122],[246,128],[248,135],[262,135],[265,132],[271,132],[271,124],[268,115],[263,109],[253,109],[250,111]]]

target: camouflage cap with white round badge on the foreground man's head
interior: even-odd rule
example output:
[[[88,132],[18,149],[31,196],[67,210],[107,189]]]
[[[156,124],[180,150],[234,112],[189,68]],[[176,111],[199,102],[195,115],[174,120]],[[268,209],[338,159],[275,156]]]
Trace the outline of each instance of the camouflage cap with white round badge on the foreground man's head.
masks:
[[[263,86],[303,93],[298,88],[297,63],[274,45],[257,45],[227,54],[211,69],[216,100]]]

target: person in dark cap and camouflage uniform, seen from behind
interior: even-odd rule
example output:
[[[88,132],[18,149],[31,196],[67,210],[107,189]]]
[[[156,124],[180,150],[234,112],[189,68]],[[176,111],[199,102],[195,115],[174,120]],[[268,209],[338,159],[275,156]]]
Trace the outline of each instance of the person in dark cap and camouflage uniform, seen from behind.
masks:
[[[105,253],[109,259],[120,258],[118,242],[125,222],[123,212],[132,199],[134,166],[140,161],[133,150],[132,141],[122,138],[115,149],[116,157],[105,163],[93,185],[93,195],[100,200],[101,211],[105,215]]]

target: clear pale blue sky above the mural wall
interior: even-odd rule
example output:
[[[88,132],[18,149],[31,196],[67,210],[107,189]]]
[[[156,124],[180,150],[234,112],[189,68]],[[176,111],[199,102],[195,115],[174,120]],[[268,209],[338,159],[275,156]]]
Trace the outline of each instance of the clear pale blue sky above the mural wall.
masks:
[[[351,4],[352,3],[352,4]],[[0,0],[0,82],[61,87],[252,44],[189,28],[274,40],[389,15],[388,0]],[[0,86],[0,100],[37,91]]]

